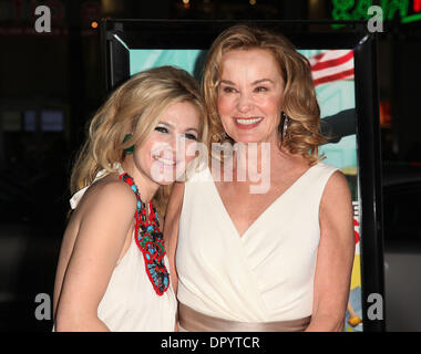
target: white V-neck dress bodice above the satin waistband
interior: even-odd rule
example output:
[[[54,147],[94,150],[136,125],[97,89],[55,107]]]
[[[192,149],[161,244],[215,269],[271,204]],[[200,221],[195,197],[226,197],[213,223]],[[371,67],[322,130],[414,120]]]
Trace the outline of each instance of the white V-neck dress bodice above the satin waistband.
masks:
[[[319,163],[238,235],[208,168],[185,184],[176,266],[178,301],[239,322],[311,315],[319,205],[337,170]]]

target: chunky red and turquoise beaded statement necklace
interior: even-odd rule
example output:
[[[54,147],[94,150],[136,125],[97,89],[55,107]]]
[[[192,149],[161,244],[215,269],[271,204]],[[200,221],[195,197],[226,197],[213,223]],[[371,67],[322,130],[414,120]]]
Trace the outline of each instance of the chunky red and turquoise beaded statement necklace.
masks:
[[[122,173],[120,180],[125,181],[136,195],[137,204],[134,214],[136,220],[134,239],[143,253],[146,274],[152,287],[156,294],[161,296],[170,287],[170,275],[164,263],[164,240],[160,230],[160,220],[156,215],[156,209],[151,200],[148,204],[150,215],[146,216],[146,205],[142,202],[133,178],[129,174]]]

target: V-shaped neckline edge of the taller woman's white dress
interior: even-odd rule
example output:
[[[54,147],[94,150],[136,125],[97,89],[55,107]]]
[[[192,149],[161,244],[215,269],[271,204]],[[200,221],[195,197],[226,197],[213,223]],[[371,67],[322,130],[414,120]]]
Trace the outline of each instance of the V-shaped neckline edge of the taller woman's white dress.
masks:
[[[209,169],[209,167],[207,167],[207,171],[208,174],[210,175],[210,181],[212,181],[212,188],[214,189],[214,192],[215,192],[215,197],[217,199],[217,202],[222,206],[220,210],[222,210],[222,214],[224,215],[224,217],[228,220],[228,223],[232,226],[233,230],[235,231],[235,235],[239,238],[239,239],[244,239],[245,236],[247,236],[248,232],[250,232],[250,230],[255,227],[255,225],[257,225],[263,218],[264,216],[268,212],[268,210],[270,210],[271,208],[274,208],[274,206],[281,199],[284,199],[285,195],[289,194],[290,190],[292,190],[302,179],[305,179],[306,176],[309,175],[309,171],[314,169],[314,167],[316,166],[319,166],[320,163],[316,164],[316,165],[312,165],[310,166],[305,173],[302,173],[287,189],[285,189],[278,197],[276,197],[274,199],[273,202],[269,204],[269,206],[264,209],[258,216],[256,219],[254,219],[251,221],[251,223],[247,227],[247,229],[243,232],[243,233],[239,233],[237,227],[235,226],[235,222],[233,221],[225,204],[224,204],[224,200],[223,198],[220,197],[219,195],[219,191],[218,191],[218,188],[216,187],[215,185],[215,180],[212,176],[212,171]]]

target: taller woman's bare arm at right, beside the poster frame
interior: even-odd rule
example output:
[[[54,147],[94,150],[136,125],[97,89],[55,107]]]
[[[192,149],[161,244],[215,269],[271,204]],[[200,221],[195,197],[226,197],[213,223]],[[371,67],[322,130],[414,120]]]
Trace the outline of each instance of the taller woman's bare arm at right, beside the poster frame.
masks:
[[[306,331],[343,331],[355,254],[352,199],[348,183],[336,171],[320,201],[311,322]]]

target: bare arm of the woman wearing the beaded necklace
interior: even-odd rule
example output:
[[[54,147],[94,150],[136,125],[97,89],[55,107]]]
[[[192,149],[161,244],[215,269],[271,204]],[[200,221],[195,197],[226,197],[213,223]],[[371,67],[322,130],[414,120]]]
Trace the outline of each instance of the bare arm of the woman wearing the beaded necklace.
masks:
[[[109,331],[97,306],[131,231],[135,198],[120,183],[91,188],[58,300],[57,331]]]

